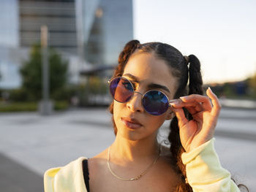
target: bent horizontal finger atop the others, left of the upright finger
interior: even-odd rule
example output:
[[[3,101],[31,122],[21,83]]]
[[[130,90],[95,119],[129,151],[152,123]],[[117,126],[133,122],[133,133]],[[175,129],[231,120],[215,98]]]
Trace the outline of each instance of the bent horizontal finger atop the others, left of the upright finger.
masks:
[[[180,99],[184,102],[184,103],[188,103],[188,102],[197,102],[197,103],[201,103],[203,106],[204,110],[208,110],[211,111],[211,101],[208,98],[208,96],[201,96],[198,94],[192,94],[189,96],[181,96]]]

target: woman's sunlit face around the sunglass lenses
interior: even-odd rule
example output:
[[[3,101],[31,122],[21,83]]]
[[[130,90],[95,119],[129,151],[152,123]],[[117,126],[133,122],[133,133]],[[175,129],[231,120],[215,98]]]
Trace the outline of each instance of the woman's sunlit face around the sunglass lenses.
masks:
[[[151,53],[138,53],[132,55],[124,68],[123,77],[135,85],[135,93],[132,99],[126,103],[119,103],[114,100],[113,118],[118,129],[117,134],[121,134],[129,140],[145,139],[146,137],[156,137],[157,129],[165,120],[173,118],[173,112],[170,108],[162,115],[150,115],[144,110],[141,103],[142,94],[151,89],[159,90],[165,93],[168,99],[173,99],[175,93],[176,79],[170,74],[170,68],[165,61],[156,58]],[[134,80],[138,82],[134,82]],[[163,88],[149,88],[150,84],[165,86]],[[131,124],[127,121],[136,121],[141,125]]]

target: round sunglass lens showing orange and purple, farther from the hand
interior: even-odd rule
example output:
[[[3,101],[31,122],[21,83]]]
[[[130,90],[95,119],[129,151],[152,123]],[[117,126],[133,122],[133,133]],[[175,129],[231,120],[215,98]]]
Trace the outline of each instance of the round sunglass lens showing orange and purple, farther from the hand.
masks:
[[[116,77],[110,82],[110,93],[116,101],[127,102],[133,95],[132,83],[123,77]]]

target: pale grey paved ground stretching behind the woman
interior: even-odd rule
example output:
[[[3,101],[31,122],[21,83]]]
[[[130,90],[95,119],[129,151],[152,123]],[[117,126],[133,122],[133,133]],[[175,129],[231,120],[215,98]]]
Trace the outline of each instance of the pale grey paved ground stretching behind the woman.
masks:
[[[1,191],[43,191],[46,169],[80,156],[93,157],[115,139],[105,108],[0,114]],[[165,137],[169,122],[160,128]],[[223,108],[215,134],[222,166],[256,191],[256,110]]]

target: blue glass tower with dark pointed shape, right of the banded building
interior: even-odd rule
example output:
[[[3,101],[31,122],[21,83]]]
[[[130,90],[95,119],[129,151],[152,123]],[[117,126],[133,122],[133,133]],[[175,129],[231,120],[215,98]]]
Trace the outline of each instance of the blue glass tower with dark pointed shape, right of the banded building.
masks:
[[[116,65],[133,38],[132,0],[78,0],[80,54],[94,65]]]

